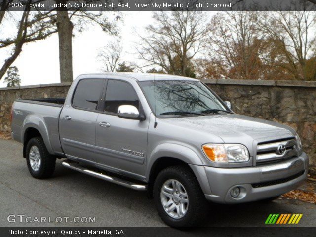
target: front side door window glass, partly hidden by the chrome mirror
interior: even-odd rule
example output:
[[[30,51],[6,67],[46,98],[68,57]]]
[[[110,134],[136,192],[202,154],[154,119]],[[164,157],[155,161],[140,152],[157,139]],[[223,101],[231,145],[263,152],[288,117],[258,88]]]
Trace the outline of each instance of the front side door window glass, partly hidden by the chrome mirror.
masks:
[[[138,96],[130,84],[119,80],[109,80],[104,111],[117,113],[120,105],[133,105],[138,108]]]

